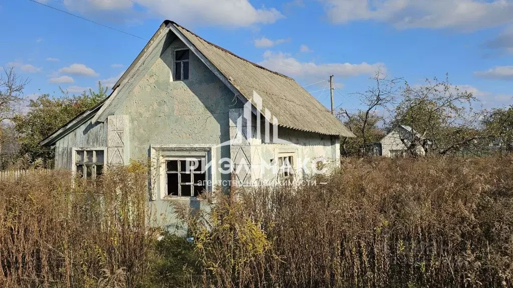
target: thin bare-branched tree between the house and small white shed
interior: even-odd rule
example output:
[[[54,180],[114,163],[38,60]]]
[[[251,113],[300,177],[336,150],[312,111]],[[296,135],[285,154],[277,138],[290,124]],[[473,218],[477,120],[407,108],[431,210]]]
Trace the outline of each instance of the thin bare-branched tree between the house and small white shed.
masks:
[[[365,92],[352,93],[360,98],[360,102],[365,108],[354,113],[341,110],[337,114],[344,121],[346,127],[357,136],[356,139],[346,138],[341,143],[342,154],[346,156],[349,154],[365,155],[369,143],[382,136],[378,124],[385,120],[385,111],[379,110],[389,110],[389,105],[393,104],[396,99],[400,90],[399,83],[402,81],[402,78],[388,78],[381,68],[378,68],[370,79],[374,83],[373,86],[369,86]],[[346,145],[351,148],[347,148]]]

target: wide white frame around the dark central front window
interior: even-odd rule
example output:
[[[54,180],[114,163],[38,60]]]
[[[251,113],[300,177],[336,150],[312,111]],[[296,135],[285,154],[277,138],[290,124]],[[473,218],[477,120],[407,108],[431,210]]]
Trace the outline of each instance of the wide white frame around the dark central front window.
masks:
[[[152,165],[152,176],[150,189],[151,200],[169,200],[169,199],[196,199],[190,196],[171,196],[167,195],[167,160],[185,160],[185,158],[204,158],[205,164],[212,163],[212,166],[206,167],[205,180],[206,191],[212,191],[212,184],[216,181],[215,157],[213,153],[215,145],[191,145],[191,146],[151,146],[150,158]],[[153,175],[155,172],[156,175]]]

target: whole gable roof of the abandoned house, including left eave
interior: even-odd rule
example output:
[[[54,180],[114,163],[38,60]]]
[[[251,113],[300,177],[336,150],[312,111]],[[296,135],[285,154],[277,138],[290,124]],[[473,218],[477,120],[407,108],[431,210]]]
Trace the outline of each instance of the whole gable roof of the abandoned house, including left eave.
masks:
[[[151,49],[152,45],[157,42],[159,37],[162,37],[163,33],[167,33],[169,30],[179,34],[177,35],[179,38],[186,39],[189,43],[185,42],[185,44],[198,57],[207,59],[213,67],[207,66],[210,69],[216,69],[213,72],[218,76],[220,76],[220,72],[223,78],[221,80],[225,84],[229,84],[232,90],[239,92],[239,97],[242,96],[244,100],[250,101],[253,97],[253,92],[257,92],[262,97],[262,111],[268,109],[271,115],[278,119],[278,126],[324,135],[356,137],[339,119],[334,117],[324,105],[310,95],[294,79],[252,63],[208,42],[170,20],[165,20],[114,85],[112,88],[114,91],[109,97],[97,107],[85,111],[77,116],[76,119],[71,120],[61,129],[41,141],[41,145],[52,145],[58,139],[65,136],[70,132],[70,129],[72,130],[76,125],[80,125],[76,122],[78,119],[86,121],[92,118],[93,121],[96,120],[99,114],[103,113],[113,98],[117,96],[118,91],[116,90],[126,83],[129,75],[135,70],[139,62],[144,60],[145,54]],[[93,116],[90,116],[91,112]],[[88,115],[87,119],[86,117],[81,117],[86,114]]]

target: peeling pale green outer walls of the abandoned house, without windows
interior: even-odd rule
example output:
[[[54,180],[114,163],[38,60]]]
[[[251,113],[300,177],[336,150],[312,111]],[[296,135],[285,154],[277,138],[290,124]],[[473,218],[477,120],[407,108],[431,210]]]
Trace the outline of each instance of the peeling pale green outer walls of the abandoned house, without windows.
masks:
[[[174,35],[168,36],[162,47],[150,51],[139,71],[119,87],[116,100],[109,106],[108,115],[128,115],[129,158],[147,160],[150,146],[214,147],[230,139],[229,110],[242,109],[243,105],[229,88],[211,72],[193,53],[190,53],[190,78],[185,81],[172,80],[174,49],[185,48]],[[71,168],[72,147],[106,147],[106,129],[103,123],[94,126],[90,122],[77,128],[56,143],[56,167]],[[296,143],[300,157],[324,156],[332,158],[337,145],[332,145],[330,136],[280,128],[280,138]],[[285,146],[262,144],[258,148],[262,158],[274,158],[276,151]],[[214,148],[217,160],[230,158],[230,147]],[[335,156],[335,160],[338,156]],[[230,180],[230,175],[218,169],[216,180]],[[262,175],[273,178],[269,173]],[[172,201],[172,202],[170,202]],[[152,201],[157,215],[166,215],[170,230],[176,232],[176,221],[170,203],[181,202],[192,207],[202,206],[195,199]]]

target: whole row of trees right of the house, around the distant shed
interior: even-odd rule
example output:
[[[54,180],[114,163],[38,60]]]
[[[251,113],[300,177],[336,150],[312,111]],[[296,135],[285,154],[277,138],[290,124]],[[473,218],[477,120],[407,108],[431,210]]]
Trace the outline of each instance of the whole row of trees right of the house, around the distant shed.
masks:
[[[502,151],[513,150],[513,105],[484,109],[472,92],[452,85],[448,75],[411,86],[378,70],[371,80],[365,92],[353,93],[362,109],[337,113],[357,136],[341,141],[342,156],[368,155],[372,143],[399,125],[412,128],[409,140],[400,140],[413,157],[419,151],[427,156],[481,155],[492,143]]]

